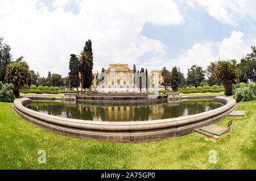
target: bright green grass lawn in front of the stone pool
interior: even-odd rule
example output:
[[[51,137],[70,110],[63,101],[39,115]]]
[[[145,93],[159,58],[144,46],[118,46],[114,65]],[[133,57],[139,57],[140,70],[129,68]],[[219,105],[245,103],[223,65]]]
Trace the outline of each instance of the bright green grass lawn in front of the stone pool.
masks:
[[[17,116],[11,103],[0,102],[0,169],[256,169],[256,101],[238,103],[247,110],[233,120],[233,132],[210,141],[193,132],[145,144],[79,140],[44,131]],[[39,150],[46,164],[39,164]],[[209,163],[209,151],[217,163]]]

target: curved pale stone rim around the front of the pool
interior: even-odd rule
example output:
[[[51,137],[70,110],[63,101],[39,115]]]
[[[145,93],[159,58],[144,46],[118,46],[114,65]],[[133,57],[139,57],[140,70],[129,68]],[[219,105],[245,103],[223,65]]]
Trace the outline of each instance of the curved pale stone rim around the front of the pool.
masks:
[[[201,99],[205,98],[202,96]],[[97,122],[46,115],[24,107],[31,103],[29,98],[16,99],[13,108],[30,123],[66,136],[102,141],[148,142],[191,133],[196,128],[224,119],[236,108],[236,100],[232,98],[217,96],[214,100],[225,105],[191,116],[139,122]]]

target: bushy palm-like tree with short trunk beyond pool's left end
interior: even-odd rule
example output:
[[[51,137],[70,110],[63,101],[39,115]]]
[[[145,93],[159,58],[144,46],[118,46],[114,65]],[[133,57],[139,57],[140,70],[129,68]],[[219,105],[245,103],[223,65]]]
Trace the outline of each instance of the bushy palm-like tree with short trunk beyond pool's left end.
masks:
[[[24,84],[28,84],[31,81],[31,72],[28,71],[28,65],[25,61],[13,62],[7,66],[5,81],[14,85],[14,94],[19,96],[19,89]]]

